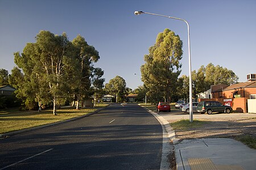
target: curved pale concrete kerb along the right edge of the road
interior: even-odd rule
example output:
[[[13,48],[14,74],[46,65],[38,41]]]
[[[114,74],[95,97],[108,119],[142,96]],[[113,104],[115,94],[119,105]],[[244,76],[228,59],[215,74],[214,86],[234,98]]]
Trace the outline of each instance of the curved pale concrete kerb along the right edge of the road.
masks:
[[[141,107],[143,107],[141,105]],[[146,109],[149,113],[151,113],[161,124],[162,129],[163,129],[163,148],[162,148],[162,159],[161,159],[161,164],[160,164],[160,169],[170,169],[170,162],[168,161],[168,155],[171,154],[171,151],[175,151],[174,150],[174,146],[171,145],[172,143],[176,143],[177,140],[175,138],[175,131],[174,129],[172,129],[170,123],[163,118],[162,116],[160,116],[158,113],[155,113],[154,111],[151,111],[145,107],[143,107],[144,109]]]

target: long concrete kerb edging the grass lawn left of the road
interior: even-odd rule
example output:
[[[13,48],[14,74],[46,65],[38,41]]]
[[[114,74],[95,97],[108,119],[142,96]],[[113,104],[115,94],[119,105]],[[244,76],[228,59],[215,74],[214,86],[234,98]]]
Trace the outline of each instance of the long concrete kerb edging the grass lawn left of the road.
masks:
[[[98,109],[94,112],[91,112],[91,113],[88,113],[88,114],[85,114],[85,115],[82,115],[82,116],[79,116],[79,117],[74,117],[74,118],[71,118],[71,119],[68,119],[68,120],[54,122],[52,124],[47,124],[47,125],[40,125],[40,126],[36,126],[34,128],[28,128],[28,129],[23,129],[23,130],[12,131],[12,132],[9,132],[9,133],[3,133],[3,134],[0,134],[0,138],[10,137],[10,136],[17,135],[17,134],[27,133],[27,132],[34,131],[34,130],[39,130],[39,129],[48,128],[48,127],[51,127],[51,126],[57,126],[57,125],[60,125],[60,124],[65,124],[67,122],[79,120],[81,118],[88,117],[88,116],[91,116],[92,114],[98,113],[98,112],[100,112],[101,110],[105,109],[108,106],[109,105],[107,105],[103,108],[100,108],[100,109]]]

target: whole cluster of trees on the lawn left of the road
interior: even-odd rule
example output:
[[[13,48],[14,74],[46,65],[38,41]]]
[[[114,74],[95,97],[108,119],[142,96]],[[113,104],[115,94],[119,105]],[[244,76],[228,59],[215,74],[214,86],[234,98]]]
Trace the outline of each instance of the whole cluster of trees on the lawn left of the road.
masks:
[[[79,109],[81,99],[97,96],[104,87],[104,71],[93,66],[100,56],[84,37],[78,35],[69,41],[66,33],[40,31],[35,40],[27,43],[22,53],[14,53],[17,66],[8,76],[8,83],[16,88],[16,97],[28,109],[35,107],[35,102],[39,107],[52,104],[56,115],[56,106],[68,99],[77,100]],[[6,70],[3,72],[6,75]]]

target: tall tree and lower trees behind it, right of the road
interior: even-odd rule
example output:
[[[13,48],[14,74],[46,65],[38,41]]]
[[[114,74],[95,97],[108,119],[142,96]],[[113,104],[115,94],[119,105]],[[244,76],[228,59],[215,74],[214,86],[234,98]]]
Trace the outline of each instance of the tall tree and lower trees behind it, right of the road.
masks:
[[[156,37],[156,42],[144,55],[145,63],[141,66],[143,86],[135,92],[141,99],[147,96],[151,103],[158,101],[176,101],[189,96],[189,77],[180,76],[180,59],[183,56],[183,42],[170,29],[164,29]],[[179,77],[180,76],[180,77]],[[238,76],[232,70],[220,65],[209,63],[202,65],[199,70],[192,71],[193,97],[208,90],[214,84],[235,84]]]

